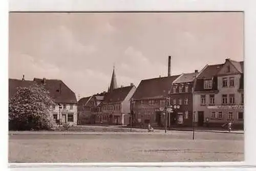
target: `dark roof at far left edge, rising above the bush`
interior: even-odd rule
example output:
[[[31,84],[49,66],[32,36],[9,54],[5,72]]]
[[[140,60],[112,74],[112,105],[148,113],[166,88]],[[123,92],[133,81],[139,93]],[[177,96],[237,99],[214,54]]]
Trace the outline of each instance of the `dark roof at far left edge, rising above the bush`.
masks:
[[[9,98],[12,98],[17,91],[18,87],[29,87],[34,84],[34,81],[30,80],[20,80],[20,79],[11,79],[9,78]]]

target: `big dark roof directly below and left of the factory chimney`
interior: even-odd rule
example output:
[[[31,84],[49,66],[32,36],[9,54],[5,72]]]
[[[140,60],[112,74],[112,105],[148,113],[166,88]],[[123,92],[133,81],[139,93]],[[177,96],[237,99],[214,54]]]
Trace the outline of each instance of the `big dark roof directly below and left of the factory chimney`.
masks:
[[[136,99],[156,99],[164,98],[172,90],[172,83],[180,75],[170,77],[159,77],[142,80],[135,91],[133,98]]]

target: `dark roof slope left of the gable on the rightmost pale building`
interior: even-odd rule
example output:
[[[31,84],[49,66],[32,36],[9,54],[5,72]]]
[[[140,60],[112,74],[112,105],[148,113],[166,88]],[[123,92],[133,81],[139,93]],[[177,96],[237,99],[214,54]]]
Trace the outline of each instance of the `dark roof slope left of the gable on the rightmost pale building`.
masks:
[[[200,78],[212,78],[215,76],[222,68],[224,64],[217,64],[217,65],[210,65],[207,66],[202,73],[198,76],[198,79]]]

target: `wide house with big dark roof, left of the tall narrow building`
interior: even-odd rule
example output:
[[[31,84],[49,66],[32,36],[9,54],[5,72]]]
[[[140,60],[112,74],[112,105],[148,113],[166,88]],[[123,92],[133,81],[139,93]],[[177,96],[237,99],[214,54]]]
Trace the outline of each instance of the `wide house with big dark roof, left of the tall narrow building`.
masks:
[[[180,75],[142,80],[132,97],[132,107],[135,114],[135,124],[162,127],[165,124],[163,110],[166,98],[172,90],[172,84]],[[169,115],[167,116],[169,117]],[[168,126],[170,126],[170,119]]]

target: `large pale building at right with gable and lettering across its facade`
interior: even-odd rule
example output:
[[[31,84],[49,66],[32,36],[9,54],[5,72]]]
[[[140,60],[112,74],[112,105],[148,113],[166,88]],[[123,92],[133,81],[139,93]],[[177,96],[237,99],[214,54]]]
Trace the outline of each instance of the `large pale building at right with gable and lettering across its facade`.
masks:
[[[243,61],[226,59],[220,65],[206,65],[198,75],[194,111],[198,126],[243,126]]]

